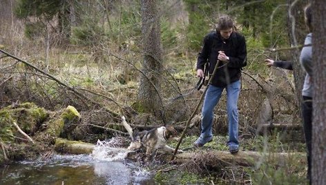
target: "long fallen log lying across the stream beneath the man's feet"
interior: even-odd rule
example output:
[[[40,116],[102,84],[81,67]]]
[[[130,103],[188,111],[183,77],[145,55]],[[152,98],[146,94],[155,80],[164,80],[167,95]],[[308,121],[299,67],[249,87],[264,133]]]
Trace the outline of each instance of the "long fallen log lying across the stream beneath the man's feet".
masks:
[[[95,148],[94,144],[88,144],[84,142],[69,141],[66,139],[57,139],[55,142],[55,150],[59,153],[69,154],[90,154]],[[137,159],[137,153],[126,148],[111,148],[112,152],[109,152],[111,157],[115,157],[115,154],[126,153],[126,159]],[[167,153],[157,154],[157,158],[161,161],[171,161],[173,155]],[[217,168],[218,166],[255,166],[260,162],[266,160],[273,160],[279,163],[286,162],[289,159],[296,159],[296,162],[305,163],[305,153],[259,153],[256,151],[239,151],[239,153],[232,155],[229,151],[211,150],[205,151],[203,149],[196,149],[190,153],[180,153],[175,155],[173,162],[175,164],[184,164],[193,162],[195,164],[204,164],[211,168]]]

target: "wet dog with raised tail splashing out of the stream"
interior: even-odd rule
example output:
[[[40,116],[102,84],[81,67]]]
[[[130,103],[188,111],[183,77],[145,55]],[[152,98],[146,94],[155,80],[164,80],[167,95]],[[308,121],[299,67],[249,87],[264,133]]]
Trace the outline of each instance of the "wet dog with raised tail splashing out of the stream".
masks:
[[[133,133],[133,129],[126,122],[126,118],[122,116],[122,125],[128,131],[131,136],[131,144],[128,146],[128,150],[137,150],[142,147],[146,148],[146,158],[152,159],[156,153],[156,150],[164,150],[168,153],[173,153],[174,148],[167,146],[166,143],[172,139],[177,139],[177,130],[173,126],[161,126],[158,128],[152,128],[151,130],[143,130],[141,132]],[[178,150],[182,152],[182,150]]]

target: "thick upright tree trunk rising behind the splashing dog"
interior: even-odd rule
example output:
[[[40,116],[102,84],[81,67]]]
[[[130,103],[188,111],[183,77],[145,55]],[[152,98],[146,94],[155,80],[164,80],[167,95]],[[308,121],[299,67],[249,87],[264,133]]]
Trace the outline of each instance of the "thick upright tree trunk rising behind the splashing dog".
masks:
[[[162,100],[160,98],[160,81],[162,79],[162,50],[160,34],[160,17],[158,17],[157,0],[142,0],[142,43],[144,61],[138,98],[144,112],[160,115]]]

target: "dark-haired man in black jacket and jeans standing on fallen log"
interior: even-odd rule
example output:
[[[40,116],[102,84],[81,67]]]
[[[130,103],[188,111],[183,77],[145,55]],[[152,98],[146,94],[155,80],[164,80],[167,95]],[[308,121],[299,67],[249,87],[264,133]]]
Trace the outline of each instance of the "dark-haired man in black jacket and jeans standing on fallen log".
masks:
[[[204,77],[205,63],[209,63],[209,74],[215,73],[202,107],[202,125],[200,137],[194,146],[200,147],[213,139],[213,109],[218,104],[222,91],[227,90],[227,117],[229,122],[230,153],[239,150],[238,141],[238,98],[240,94],[240,77],[242,67],[247,65],[247,46],[245,37],[234,30],[233,20],[223,15],[218,19],[216,31],[204,37],[204,46],[198,56],[197,76]],[[218,62],[219,61],[219,62]]]

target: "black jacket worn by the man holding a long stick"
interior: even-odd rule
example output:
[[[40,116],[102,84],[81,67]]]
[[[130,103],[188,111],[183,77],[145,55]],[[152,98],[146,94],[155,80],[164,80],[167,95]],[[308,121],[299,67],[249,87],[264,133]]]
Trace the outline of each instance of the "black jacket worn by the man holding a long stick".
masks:
[[[220,32],[211,32],[204,37],[202,52],[198,55],[197,69],[204,70],[204,65],[209,62],[209,74],[213,73],[218,61],[218,51],[224,51],[229,57],[229,62],[220,61],[218,71],[213,77],[212,85],[225,87],[241,77],[242,67],[247,65],[247,46],[245,37],[238,32],[232,32],[229,39],[222,39]],[[222,67],[220,67],[222,66]]]

